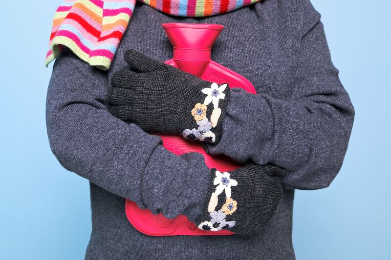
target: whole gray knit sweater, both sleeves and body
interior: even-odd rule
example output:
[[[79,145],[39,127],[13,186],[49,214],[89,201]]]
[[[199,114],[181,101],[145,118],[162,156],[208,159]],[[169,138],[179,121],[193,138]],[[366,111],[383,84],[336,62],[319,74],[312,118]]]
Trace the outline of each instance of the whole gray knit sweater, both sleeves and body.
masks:
[[[294,259],[294,189],[330,184],[342,165],[354,117],[319,13],[309,0],[263,0],[197,19],[136,5],[110,70],[65,54],[56,60],[47,94],[53,153],[66,169],[90,181],[92,234],[86,259]],[[200,155],[175,156],[158,137],[107,109],[109,78],[125,65],[125,50],[172,58],[161,28],[166,22],[224,25],[212,59],[245,76],[257,90],[257,96],[232,92],[221,141],[208,147],[212,154],[288,171],[278,210],[256,237],[150,237],[127,220],[125,198],[170,218],[194,219],[206,197],[209,171],[197,163]],[[194,174],[186,174],[189,169]]]

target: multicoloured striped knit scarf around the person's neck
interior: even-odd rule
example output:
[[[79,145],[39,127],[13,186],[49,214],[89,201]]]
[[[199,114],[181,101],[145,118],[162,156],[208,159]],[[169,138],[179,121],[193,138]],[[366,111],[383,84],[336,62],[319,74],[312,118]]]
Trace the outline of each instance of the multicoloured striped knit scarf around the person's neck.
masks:
[[[128,26],[136,0],[64,0],[54,15],[46,66],[64,46],[107,70]],[[226,13],[260,0],[139,0],[166,14],[201,17]]]

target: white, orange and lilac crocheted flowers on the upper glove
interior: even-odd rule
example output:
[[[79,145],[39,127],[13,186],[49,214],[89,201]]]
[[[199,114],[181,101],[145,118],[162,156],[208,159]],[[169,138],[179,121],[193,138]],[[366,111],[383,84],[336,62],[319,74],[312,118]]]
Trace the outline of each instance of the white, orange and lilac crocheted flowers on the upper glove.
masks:
[[[213,82],[210,88],[203,88],[201,90],[202,93],[207,95],[204,103],[196,103],[191,112],[198,125],[198,129],[185,129],[182,132],[184,138],[212,143],[216,141],[216,135],[211,130],[217,126],[218,119],[220,118],[221,109],[218,108],[218,101],[225,99],[225,94],[223,92],[227,86],[228,84],[226,83],[218,86],[217,83]],[[214,109],[212,111],[211,120],[209,121],[206,117],[206,111],[211,102],[213,103]],[[199,134],[195,133],[195,131],[198,131]]]

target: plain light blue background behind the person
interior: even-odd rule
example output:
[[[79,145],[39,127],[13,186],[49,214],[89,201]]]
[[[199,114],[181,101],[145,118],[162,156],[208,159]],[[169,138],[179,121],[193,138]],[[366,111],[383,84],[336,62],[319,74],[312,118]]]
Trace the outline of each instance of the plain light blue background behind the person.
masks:
[[[91,231],[87,180],[63,169],[45,129],[51,66],[44,68],[59,0],[1,1],[0,259],[83,259]],[[340,174],[297,191],[298,260],[390,256],[391,66],[386,0],[313,0],[333,62],[356,109]]]

